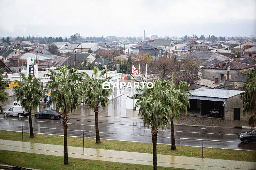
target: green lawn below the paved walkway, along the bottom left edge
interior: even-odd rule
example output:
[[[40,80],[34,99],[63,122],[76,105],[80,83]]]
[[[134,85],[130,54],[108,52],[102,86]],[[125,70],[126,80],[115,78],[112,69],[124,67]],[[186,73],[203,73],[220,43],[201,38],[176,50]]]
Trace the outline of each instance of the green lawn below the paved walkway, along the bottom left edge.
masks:
[[[36,169],[152,169],[152,166],[123,164],[100,160],[69,158],[69,165],[63,164],[63,157],[0,150],[0,160],[7,164]],[[0,163],[3,164],[3,163]],[[160,170],[175,169],[158,167]]]

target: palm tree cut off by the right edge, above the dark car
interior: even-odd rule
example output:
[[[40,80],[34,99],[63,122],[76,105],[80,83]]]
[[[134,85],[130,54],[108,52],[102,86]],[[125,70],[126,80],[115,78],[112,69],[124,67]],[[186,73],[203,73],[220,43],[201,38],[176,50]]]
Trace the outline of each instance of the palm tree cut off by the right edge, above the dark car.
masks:
[[[249,118],[249,125],[256,126],[256,70],[250,69],[245,73],[247,77],[246,83],[243,84],[244,92],[240,95],[243,97],[243,112],[244,114],[251,114]]]

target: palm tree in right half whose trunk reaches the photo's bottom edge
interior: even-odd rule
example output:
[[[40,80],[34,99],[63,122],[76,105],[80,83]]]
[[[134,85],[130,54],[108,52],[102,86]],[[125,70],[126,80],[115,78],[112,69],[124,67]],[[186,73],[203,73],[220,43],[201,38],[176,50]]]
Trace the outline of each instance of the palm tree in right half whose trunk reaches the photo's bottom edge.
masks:
[[[170,107],[164,103],[164,98],[168,97],[168,91],[162,86],[162,81],[157,79],[153,81],[153,88],[138,89],[141,94],[134,95],[138,99],[135,108],[139,109],[139,115],[143,118],[144,126],[151,128],[153,143],[153,170],[157,169],[157,128],[168,128],[170,117]]]

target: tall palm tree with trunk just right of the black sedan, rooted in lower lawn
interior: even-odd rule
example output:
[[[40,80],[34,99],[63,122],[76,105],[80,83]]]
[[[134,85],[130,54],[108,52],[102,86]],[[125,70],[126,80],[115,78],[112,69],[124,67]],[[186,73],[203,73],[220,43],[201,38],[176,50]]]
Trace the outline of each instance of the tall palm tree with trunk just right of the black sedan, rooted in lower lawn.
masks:
[[[51,92],[51,101],[56,102],[56,110],[62,113],[62,125],[64,133],[64,164],[69,164],[67,155],[67,123],[69,113],[75,112],[81,104],[82,86],[81,81],[84,73],[76,69],[67,69],[58,66],[59,71],[48,70],[45,74],[50,80],[47,82],[45,91]]]

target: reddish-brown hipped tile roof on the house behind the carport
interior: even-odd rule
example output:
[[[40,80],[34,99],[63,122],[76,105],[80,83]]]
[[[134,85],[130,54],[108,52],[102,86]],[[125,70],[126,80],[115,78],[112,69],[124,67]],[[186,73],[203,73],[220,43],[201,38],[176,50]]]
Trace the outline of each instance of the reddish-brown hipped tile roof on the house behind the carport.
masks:
[[[228,68],[228,66],[230,67],[230,70],[243,70],[243,69],[246,69],[246,68],[253,67],[252,65],[236,62],[234,60],[224,60],[224,61],[219,63],[219,67],[216,67],[216,64],[211,64],[211,65],[203,67],[203,69],[222,69],[222,70],[226,70]]]

